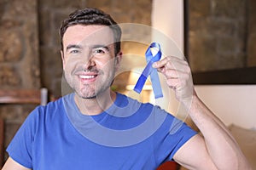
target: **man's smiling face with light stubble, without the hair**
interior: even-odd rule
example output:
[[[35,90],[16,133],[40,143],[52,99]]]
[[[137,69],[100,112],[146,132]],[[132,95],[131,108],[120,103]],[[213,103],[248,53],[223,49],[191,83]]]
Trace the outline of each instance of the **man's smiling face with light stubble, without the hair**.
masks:
[[[84,99],[109,89],[121,56],[114,56],[113,31],[108,26],[70,26],[61,52],[67,83]]]

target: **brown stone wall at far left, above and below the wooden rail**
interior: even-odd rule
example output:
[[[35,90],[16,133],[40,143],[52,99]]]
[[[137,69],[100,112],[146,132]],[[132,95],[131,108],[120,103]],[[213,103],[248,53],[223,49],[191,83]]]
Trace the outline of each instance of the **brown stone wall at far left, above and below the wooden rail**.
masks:
[[[0,88],[40,88],[37,0],[0,1]],[[35,105],[0,105],[5,146]]]

